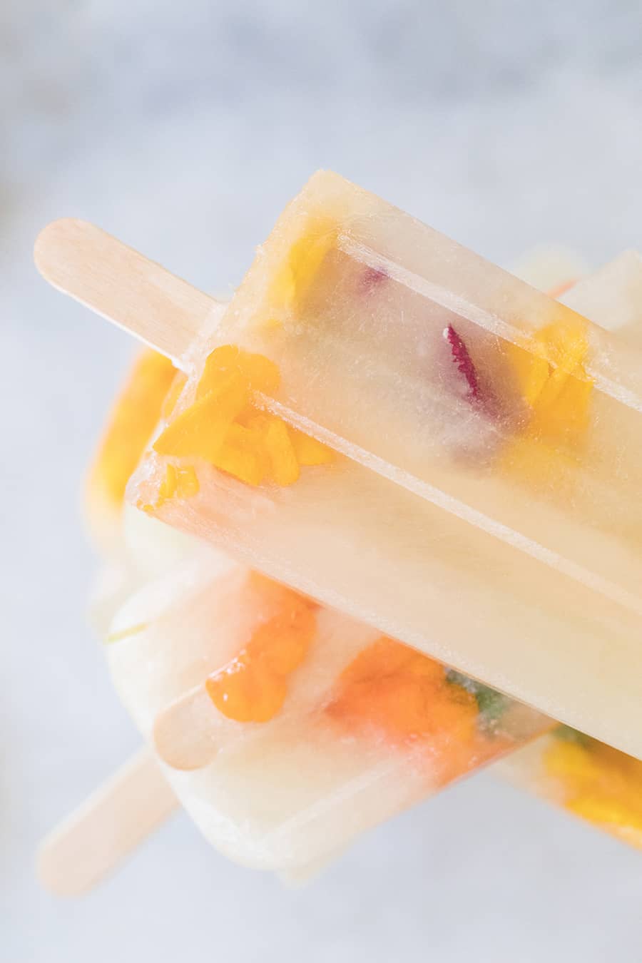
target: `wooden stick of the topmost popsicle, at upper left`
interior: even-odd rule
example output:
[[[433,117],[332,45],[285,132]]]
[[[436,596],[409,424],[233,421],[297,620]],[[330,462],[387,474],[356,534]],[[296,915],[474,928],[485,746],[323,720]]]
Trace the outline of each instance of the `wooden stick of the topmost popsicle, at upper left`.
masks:
[[[224,306],[87,221],[52,221],[36,240],[45,280],[177,366],[206,318]]]

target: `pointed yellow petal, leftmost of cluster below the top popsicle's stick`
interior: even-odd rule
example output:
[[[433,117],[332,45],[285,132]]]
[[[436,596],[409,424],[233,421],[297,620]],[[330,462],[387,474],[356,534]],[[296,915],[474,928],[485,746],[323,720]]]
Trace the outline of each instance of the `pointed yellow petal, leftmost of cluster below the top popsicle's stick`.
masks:
[[[248,391],[244,378],[230,373],[217,389],[182,411],[154,442],[159,455],[218,457],[228,429],[244,410]]]

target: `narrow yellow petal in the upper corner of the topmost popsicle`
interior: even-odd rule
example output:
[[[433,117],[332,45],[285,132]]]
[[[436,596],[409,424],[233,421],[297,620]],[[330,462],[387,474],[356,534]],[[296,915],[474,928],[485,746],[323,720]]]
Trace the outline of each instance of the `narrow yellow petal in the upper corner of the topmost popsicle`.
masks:
[[[315,281],[328,251],[336,245],[338,225],[311,219],[290,247],[272,280],[268,298],[279,307],[298,309]]]

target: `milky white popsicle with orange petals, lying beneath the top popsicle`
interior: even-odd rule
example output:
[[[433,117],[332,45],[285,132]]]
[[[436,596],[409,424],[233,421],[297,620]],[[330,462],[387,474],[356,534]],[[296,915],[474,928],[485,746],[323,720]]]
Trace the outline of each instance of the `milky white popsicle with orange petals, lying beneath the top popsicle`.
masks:
[[[106,651],[205,837],[282,874],[551,727],[237,565],[145,586],[116,613]]]

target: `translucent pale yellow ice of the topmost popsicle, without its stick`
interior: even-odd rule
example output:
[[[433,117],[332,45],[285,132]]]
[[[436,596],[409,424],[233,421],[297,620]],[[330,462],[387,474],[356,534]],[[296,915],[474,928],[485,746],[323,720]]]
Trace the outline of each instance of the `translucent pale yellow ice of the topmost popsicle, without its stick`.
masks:
[[[139,505],[642,754],[642,365],[617,333],[320,173],[190,363]],[[196,494],[164,496],[172,466]]]

